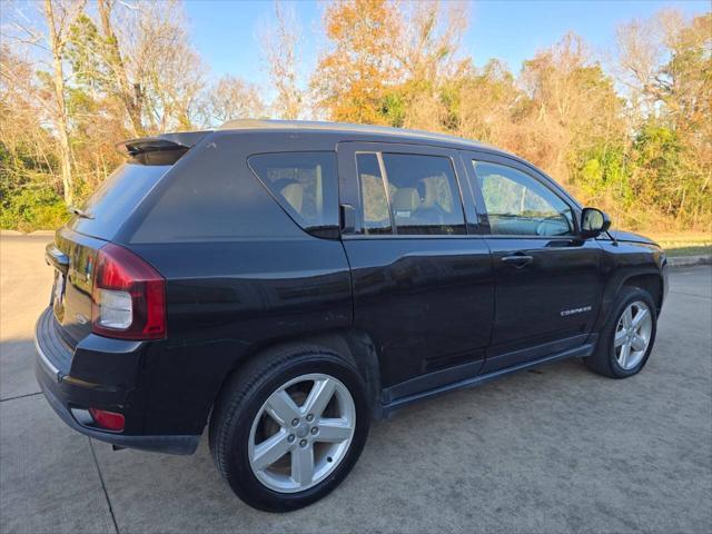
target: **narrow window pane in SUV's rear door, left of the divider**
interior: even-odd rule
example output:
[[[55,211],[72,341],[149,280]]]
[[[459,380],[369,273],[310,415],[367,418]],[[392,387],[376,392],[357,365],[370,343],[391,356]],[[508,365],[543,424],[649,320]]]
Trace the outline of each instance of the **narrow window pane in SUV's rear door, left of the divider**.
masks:
[[[360,184],[364,234],[393,234],[388,198],[378,165],[378,156],[357,154],[356,167]]]

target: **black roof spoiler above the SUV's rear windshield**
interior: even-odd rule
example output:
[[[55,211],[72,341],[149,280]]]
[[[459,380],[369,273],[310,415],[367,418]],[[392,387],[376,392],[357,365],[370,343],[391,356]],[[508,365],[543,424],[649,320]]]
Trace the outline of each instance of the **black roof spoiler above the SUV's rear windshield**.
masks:
[[[121,141],[116,148],[135,164],[174,165],[208,134],[209,131],[186,131],[140,137]]]

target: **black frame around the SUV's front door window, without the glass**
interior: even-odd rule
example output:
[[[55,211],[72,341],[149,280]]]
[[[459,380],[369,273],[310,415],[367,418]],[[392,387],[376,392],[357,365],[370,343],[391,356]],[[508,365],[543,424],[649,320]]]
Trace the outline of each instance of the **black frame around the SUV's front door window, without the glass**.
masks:
[[[504,156],[490,154],[490,152],[479,152],[479,151],[464,151],[463,158],[465,158],[465,167],[467,169],[467,176],[469,178],[469,185],[475,194],[476,201],[478,204],[477,211],[479,212],[482,220],[481,224],[483,226],[484,233],[486,237],[496,237],[502,239],[543,239],[543,240],[554,240],[554,239],[576,239],[580,235],[578,228],[578,219],[581,218],[581,208],[577,202],[574,201],[573,197],[571,197],[558,184],[556,184],[553,179],[546,177],[545,175],[540,175],[540,171],[531,167],[528,164],[524,165],[523,162],[506,158]],[[531,179],[538,182],[542,187],[551,191],[554,196],[556,196],[565,206],[568,207],[573,218],[573,229],[572,234],[567,234],[565,236],[536,236],[531,234],[493,234],[492,226],[490,225],[490,212],[487,211],[487,206],[484,200],[482,187],[479,186],[479,179],[477,172],[475,170],[475,166],[473,165],[475,161],[483,164],[492,164],[500,165],[502,167],[507,167],[510,169],[522,172],[523,175],[530,177]],[[545,179],[544,179],[545,178]],[[482,207],[479,207],[479,205]]]

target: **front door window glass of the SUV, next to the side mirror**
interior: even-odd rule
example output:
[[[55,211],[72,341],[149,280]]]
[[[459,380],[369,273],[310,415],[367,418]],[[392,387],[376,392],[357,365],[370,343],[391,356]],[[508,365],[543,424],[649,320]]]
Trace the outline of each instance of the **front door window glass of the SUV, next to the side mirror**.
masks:
[[[573,235],[571,208],[535,178],[504,165],[473,161],[492,234]]]

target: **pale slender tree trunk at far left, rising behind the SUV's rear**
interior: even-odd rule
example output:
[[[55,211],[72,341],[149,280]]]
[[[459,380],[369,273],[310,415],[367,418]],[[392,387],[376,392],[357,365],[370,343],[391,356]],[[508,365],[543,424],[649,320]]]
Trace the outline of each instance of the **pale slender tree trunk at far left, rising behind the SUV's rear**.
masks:
[[[55,26],[55,10],[51,0],[44,0],[44,17],[49,27],[49,42],[52,52],[52,89],[55,90],[56,100],[53,119],[59,140],[62,194],[67,206],[71,206],[75,185],[71,176],[71,145],[69,144],[69,118],[67,117],[67,102],[65,101],[65,70],[62,66],[62,52],[66,41],[58,33]]]

